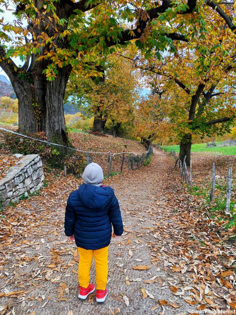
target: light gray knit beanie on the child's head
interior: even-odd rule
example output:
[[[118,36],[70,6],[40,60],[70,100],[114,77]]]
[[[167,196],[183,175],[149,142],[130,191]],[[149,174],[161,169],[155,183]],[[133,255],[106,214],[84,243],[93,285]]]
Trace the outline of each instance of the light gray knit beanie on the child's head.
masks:
[[[90,163],[86,166],[84,173],[82,175],[82,180],[85,184],[98,185],[103,180],[103,170],[97,163]]]

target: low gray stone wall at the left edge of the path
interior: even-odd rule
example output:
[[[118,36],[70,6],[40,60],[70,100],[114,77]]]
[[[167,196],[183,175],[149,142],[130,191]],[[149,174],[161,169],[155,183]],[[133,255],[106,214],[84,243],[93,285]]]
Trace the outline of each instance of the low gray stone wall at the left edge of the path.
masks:
[[[15,166],[8,169],[6,176],[0,180],[0,207],[8,207],[19,201],[24,194],[39,190],[44,180],[42,161],[38,154],[22,156]]]

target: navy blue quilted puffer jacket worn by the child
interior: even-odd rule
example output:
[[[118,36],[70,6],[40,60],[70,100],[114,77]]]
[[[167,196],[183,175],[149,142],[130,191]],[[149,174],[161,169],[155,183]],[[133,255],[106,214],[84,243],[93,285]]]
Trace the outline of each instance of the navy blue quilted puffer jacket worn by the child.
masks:
[[[116,235],[123,233],[119,203],[111,187],[82,184],[71,192],[65,208],[65,235],[74,234],[77,247],[96,250],[108,246],[111,224]]]

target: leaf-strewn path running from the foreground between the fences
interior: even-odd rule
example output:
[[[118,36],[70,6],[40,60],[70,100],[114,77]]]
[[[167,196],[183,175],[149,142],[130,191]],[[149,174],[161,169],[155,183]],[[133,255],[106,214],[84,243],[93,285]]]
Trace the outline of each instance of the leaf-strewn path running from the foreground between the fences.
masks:
[[[108,183],[119,200],[126,232],[111,241],[109,295],[103,305],[93,301],[93,296],[85,302],[78,300],[77,251],[63,229],[66,199],[79,180],[59,177],[38,196],[7,209],[0,234],[0,314],[67,315],[72,310],[74,315],[182,315],[195,310],[196,303],[191,306],[184,301],[193,301],[189,290],[197,284],[189,287],[189,275],[194,269],[187,258],[179,261],[182,254],[175,248],[177,241],[184,244],[188,223],[173,219],[173,211],[178,210],[169,209],[172,196],[165,192],[171,166],[168,156],[155,151],[148,167]],[[139,265],[149,269],[132,268]],[[143,298],[142,289],[154,298]]]

